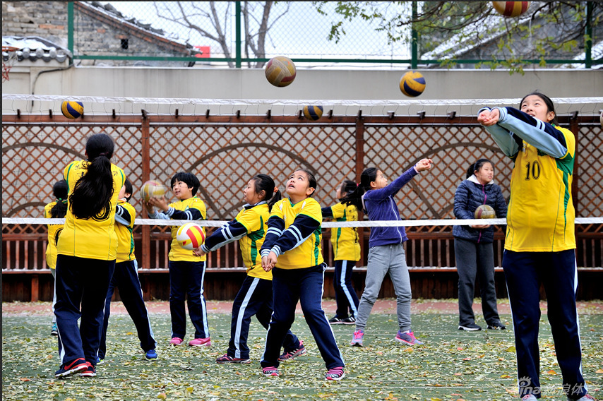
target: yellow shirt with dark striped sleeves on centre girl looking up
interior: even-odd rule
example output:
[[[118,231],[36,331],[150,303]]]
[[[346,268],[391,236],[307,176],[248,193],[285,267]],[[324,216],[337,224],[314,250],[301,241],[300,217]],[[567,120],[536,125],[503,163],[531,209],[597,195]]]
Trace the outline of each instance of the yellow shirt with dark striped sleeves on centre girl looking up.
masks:
[[[278,253],[282,253],[278,257],[277,268],[309,268],[324,262],[321,245],[323,213],[316,199],[306,198],[298,203],[292,203],[289,198],[279,200],[270,213],[270,219],[274,217],[284,224],[282,233],[278,235],[280,238],[275,241],[275,246],[280,249]],[[296,224],[295,220],[298,220]],[[300,234],[305,231],[304,227],[312,227],[306,237]],[[267,239],[270,231],[269,228]]]

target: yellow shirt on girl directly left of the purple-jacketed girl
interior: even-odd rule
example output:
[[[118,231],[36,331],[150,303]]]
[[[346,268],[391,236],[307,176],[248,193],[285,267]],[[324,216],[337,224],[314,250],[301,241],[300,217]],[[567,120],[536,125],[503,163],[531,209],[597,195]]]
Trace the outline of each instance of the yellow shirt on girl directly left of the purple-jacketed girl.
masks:
[[[354,222],[358,220],[358,209],[354,205],[338,203],[331,206],[333,220],[336,222]],[[333,227],[331,229],[333,261],[359,261],[360,242],[356,227]]]

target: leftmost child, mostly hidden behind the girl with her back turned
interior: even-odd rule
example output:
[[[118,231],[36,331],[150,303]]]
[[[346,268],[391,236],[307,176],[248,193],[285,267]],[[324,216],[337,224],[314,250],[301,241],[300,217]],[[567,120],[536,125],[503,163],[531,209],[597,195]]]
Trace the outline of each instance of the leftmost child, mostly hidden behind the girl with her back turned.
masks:
[[[67,181],[61,179],[52,186],[52,195],[56,200],[44,206],[45,219],[62,219],[67,214]],[[48,225],[48,245],[46,246],[46,265],[50,268],[52,278],[56,276],[56,243],[59,242],[59,235],[63,231],[64,225]],[[53,292],[54,293],[54,292]],[[54,295],[52,304],[54,304]],[[52,313],[51,335],[59,335],[56,329],[56,316]]]

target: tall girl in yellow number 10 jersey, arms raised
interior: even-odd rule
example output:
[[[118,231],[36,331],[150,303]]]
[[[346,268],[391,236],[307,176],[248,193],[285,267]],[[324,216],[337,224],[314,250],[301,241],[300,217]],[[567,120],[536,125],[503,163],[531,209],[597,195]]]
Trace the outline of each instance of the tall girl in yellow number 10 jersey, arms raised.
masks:
[[[503,270],[513,316],[519,396],[541,397],[538,350],[540,283],[547,293],[555,354],[568,400],[594,400],[582,376],[575,306],[575,137],[557,124],[551,99],[526,95],[520,110],[484,107],[477,121],[513,160]]]

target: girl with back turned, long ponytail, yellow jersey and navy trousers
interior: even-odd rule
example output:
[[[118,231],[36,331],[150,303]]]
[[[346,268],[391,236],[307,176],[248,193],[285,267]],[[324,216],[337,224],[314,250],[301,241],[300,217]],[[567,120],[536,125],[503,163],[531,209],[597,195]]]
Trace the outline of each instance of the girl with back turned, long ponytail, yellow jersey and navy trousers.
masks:
[[[69,191],[54,282],[61,359],[56,377],[96,376],[105,297],[117,258],[115,208],[126,179],[110,161],[113,150],[106,133],[92,135],[85,147],[88,160],[71,162],[64,170]]]

